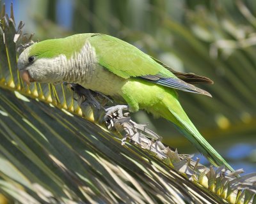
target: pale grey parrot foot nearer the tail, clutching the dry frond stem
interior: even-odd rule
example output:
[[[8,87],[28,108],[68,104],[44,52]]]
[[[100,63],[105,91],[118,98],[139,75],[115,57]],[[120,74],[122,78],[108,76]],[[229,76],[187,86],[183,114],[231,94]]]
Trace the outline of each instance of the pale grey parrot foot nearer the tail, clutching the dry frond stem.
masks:
[[[129,110],[129,106],[128,105],[116,105],[116,106],[107,108],[106,115],[104,117],[104,121],[107,122],[108,120],[117,119],[117,118],[123,119],[124,118],[124,114],[123,114],[124,110]]]

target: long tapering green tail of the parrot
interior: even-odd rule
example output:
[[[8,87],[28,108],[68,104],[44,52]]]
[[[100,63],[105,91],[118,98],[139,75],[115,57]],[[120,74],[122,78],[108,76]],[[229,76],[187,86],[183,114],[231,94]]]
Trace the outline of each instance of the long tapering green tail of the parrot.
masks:
[[[188,115],[184,112],[180,106],[179,101],[173,94],[166,93],[167,97],[164,97],[163,103],[166,108],[163,110],[162,117],[173,122],[177,128],[184,133],[184,136],[195,145],[195,147],[215,166],[225,165],[228,170],[234,171],[234,169],[223,159],[223,157],[213,149],[213,147],[204,139],[202,135],[195,128]],[[167,109],[167,110],[166,110]],[[170,112],[169,112],[169,111]]]

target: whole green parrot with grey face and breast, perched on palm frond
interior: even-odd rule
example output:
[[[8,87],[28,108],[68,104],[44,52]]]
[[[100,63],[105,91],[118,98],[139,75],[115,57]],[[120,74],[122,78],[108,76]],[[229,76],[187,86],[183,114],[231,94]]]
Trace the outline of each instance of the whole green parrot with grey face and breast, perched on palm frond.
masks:
[[[209,78],[174,71],[125,41],[95,33],[35,43],[20,54],[18,69],[28,84],[76,83],[127,104],[107,113],[143,109],[170,120],[212,164],[234,171],[200,135],[178,100],[176,89],[211,96],[192,85],[212,84]]]

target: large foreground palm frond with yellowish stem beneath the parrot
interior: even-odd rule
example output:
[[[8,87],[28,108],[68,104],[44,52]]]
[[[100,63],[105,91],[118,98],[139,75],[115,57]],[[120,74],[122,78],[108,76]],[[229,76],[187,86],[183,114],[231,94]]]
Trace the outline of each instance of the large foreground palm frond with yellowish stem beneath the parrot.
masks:
[[[254,174],[228,179],[220,170],[189,166],[189,159],[169,157],[164,163],[130,143],[122,146],[118,136],[79,117],[81,109],[67,87],[24,85],[15,42],[31,36],[22,35],[22,24],[15,31],[13,11],[8,18],[3,10],[1,23],[0,191],[7,198],[19,203],[252,201]]]

